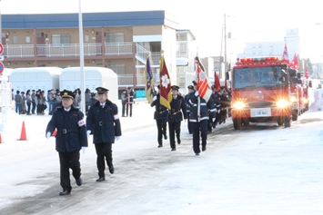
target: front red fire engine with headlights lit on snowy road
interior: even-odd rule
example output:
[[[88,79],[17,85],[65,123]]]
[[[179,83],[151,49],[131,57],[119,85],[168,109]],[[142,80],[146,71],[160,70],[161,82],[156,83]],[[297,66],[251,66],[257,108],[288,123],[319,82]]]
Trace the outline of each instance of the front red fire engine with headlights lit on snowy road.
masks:
[[[236,130],[249,122],[274,121],[290,127],[289,66],[277,56],[237,59],[231,70],[231,93]]]

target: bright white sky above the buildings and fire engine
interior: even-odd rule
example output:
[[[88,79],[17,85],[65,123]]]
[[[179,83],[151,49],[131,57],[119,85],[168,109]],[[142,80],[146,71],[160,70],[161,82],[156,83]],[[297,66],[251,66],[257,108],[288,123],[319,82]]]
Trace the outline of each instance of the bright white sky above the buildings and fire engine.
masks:
[[[49,2],[49,1],[46,1]],[[80,0],[2,0],[2,14],[78,13]],[[55,4],[54,4],[55,3]],[[43,5],[43,6],[38,6]],[[300,56],[323,61],[323,16],[317,1],[298,3],[272,0],[227,0],[197,2],[184,0],[81,0],[82,12],[166,10],[178,18],[179,29],[189,29],[196,36],[200,56],[219,55],[222,26],[225,23],[232,39],[227,45],[241,52],[245,42],[284,41],[286,29],[298,28]],[[224,49],[223,49],[224,50]],[[282,48],[283,53],[283,48]],[[290,54],[292,55],[292,54]],[[313,62],[313,61],[312,61]]]

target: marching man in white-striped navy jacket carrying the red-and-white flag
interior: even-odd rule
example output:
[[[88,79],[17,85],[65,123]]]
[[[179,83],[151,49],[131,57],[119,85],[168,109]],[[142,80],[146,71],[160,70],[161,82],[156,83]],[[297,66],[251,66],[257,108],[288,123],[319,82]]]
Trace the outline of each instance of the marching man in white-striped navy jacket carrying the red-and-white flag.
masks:
[[[212,119],[213,121],[215,121],[217,109],[215,108],[213,100],[211,98],[208,101],[206,101],[198,95],[198,91],[196,91],[192,96],[190,96],[188,103],[191,105],[189,108],[189,121],[192,122],[193,151],[196,155],[199,155],[200,137],[202,138],[202,151],[206,151],[207,122],[209,114],[212,115]]]

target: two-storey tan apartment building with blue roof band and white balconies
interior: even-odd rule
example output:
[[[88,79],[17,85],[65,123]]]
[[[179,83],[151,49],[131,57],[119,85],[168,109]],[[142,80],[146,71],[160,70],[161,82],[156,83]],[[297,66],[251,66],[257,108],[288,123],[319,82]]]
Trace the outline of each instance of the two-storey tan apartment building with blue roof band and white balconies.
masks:
[[[159,82],[164,51],[168,73],[177,84],[177,18],[166,11],[83,14],[85,66],[107,67],[119,89],[145,86],[146,54]],[[2,15],[6,68],[79,66],[78,14]]]

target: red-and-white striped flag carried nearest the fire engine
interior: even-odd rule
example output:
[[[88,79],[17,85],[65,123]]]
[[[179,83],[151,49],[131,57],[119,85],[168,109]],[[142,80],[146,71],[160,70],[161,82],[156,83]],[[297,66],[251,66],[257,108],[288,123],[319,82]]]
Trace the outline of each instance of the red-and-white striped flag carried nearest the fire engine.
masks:
[[[196,57],[196,82],[197,82],[197,91],[201,98],[208,102],[211,97],[212,91],[208,86],[207,73],[204,71],[204,66],[200,63],[198,57]]]

